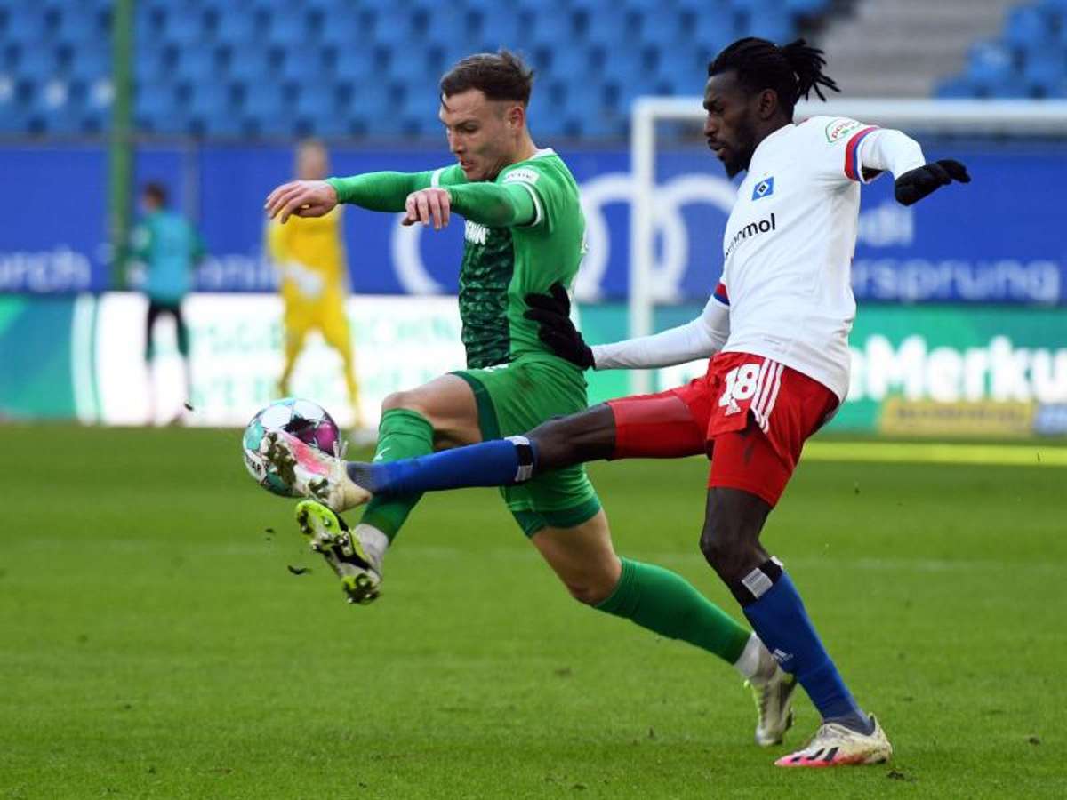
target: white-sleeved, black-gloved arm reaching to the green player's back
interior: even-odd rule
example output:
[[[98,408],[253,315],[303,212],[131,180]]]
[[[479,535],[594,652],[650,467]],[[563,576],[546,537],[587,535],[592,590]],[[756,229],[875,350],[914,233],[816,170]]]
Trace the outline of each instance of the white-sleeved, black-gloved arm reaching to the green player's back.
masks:
[[[551,294],[528,294],[528,319],[540,324],[541,340],[561,358],[583,369],[652,369],[672,367],[717,353],[730,336],[730,309],[712,297],[697,319],[652,336],[610,345],[586,345],[571,322],[570,300],[559,284]]]

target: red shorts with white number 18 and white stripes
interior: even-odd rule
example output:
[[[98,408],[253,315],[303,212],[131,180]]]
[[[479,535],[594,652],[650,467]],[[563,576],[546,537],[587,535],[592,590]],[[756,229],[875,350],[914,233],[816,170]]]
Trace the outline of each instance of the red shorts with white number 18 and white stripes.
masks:
[[[719,353],[707,374],[657,395],[609,400],[614,459],[705,453],[708,486],[739,489],[771,506],[785,491],[803,443],[838,397],[806,374],[762,355]]]

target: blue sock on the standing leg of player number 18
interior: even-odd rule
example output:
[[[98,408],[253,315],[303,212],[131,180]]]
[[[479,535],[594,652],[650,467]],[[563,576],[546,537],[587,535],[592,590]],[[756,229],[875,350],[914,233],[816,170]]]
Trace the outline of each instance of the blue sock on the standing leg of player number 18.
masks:
[[[766,561],[733,591],[757,635],[782,669],[796,675],[823,720],[871,733],[874,723],[857,705],[830,660],[781,562],[774,558]]]

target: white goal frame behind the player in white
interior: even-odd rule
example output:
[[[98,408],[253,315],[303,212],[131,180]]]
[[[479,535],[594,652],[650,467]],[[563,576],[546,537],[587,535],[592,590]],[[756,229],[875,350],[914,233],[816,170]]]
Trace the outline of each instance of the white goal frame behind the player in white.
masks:
[[[640,97],[631,111],[633,201],[630,225],[630,336],[654,333],[656,125],[700,124],[701,97]],[[801,101],[796,116],[847,116],[864,123],[931,134],[1067,138],[1065,100],[834,99]],[[721,169],[708,157],[708,170]],[[652,373],[634,370],[631,390],[650,391]]]

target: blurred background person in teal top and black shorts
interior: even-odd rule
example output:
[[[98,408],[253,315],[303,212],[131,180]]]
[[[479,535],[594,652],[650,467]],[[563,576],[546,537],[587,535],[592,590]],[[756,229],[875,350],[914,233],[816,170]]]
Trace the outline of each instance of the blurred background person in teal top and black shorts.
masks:
[[[159,182],[145,183],[141,192],[143,217],[133,229],[131,256],[144,266],[143,291],[148,298],[145,322],[144,358],[148,369],[148,416],[156,421],[154,362],[157,354],[153,329],[162,316],[174,318],[178,354],[185,379],[187,404],[192,395],[189,368],[189,326],[181,315],[181,302],[192,290],[193,270],[205,256],[204,241],[193,224],[168,208],[166,188]],[[180,418],[180,412],[175,420]]]

